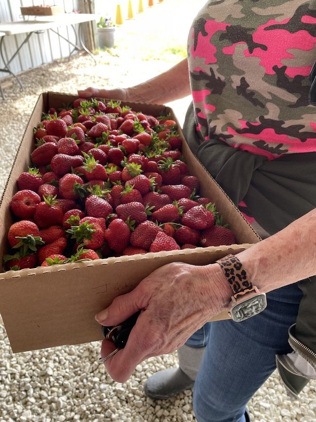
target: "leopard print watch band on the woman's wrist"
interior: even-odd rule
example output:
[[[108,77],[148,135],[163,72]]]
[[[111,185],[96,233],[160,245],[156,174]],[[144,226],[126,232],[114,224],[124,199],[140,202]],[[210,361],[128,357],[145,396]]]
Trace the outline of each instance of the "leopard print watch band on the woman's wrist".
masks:
[[[223,270],[234,294],[253,289],[250,278],[240,260],[234,255],[227,255],[216,261]]]

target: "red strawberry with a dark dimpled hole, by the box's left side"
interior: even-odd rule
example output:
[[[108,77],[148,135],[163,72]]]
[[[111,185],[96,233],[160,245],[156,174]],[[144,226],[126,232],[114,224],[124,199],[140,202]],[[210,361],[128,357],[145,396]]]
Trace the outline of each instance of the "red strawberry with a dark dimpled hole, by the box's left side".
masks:
[[[13,214],[20,219],[34,217],[37,204],[41,201],[40,196],[33,190],[24,189],[18,191],[10,201]]]

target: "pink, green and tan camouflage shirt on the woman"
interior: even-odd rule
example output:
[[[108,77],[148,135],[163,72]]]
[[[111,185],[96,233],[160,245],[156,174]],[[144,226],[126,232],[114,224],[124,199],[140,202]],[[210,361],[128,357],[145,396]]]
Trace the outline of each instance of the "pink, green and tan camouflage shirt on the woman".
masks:
[[[265,156],[316,151],[308,79],[316,0],[211,0],[189,34],[197,142]]]

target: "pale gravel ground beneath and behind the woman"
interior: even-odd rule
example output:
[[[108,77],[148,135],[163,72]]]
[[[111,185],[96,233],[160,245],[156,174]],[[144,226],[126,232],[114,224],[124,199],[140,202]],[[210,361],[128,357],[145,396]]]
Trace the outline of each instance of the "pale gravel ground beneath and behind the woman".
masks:
[[[135,21],[118,28],[116,48],[97,55],[97,66],[90,57],[75,55],[70,61],[55,61],[23,73],[24,91],[14,82],[5,90],[7,100],[1,102],[0,193],[39,93],[75,93],[89,85],[129,86],[168,69],[182,58],[191,16],[203,3],[166,0],[136,15]],[[189,11],[181,17],[181,28],[172,20],[180,5]],[[158,37],[159,44],[155,42]],[[171,54],[172,46],[180,54]],[[186,98],[170,104],[180,122],[188,103]],[[148,376],[177,365],[176,353],[148,359],[126,383],[119,384],[99,366],[99,350],[100,344],[94,342],[14,355],[0,325],[0,421],[195,421],[190,390],[157,402],[143,393]],[[248,408],[257,422],[315,422],[316,382],[305,387],[299,401],[290,401],[274,373]]]

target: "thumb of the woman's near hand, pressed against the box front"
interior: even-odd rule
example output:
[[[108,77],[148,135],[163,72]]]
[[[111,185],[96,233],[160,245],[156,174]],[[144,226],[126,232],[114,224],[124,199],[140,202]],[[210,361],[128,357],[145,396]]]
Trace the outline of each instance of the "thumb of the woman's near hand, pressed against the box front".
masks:
[[[139,311],[139,297],[134,289],[130,293],[116,297],[110,306],[95,315],[95,319],[104,326],[117,325]]]

